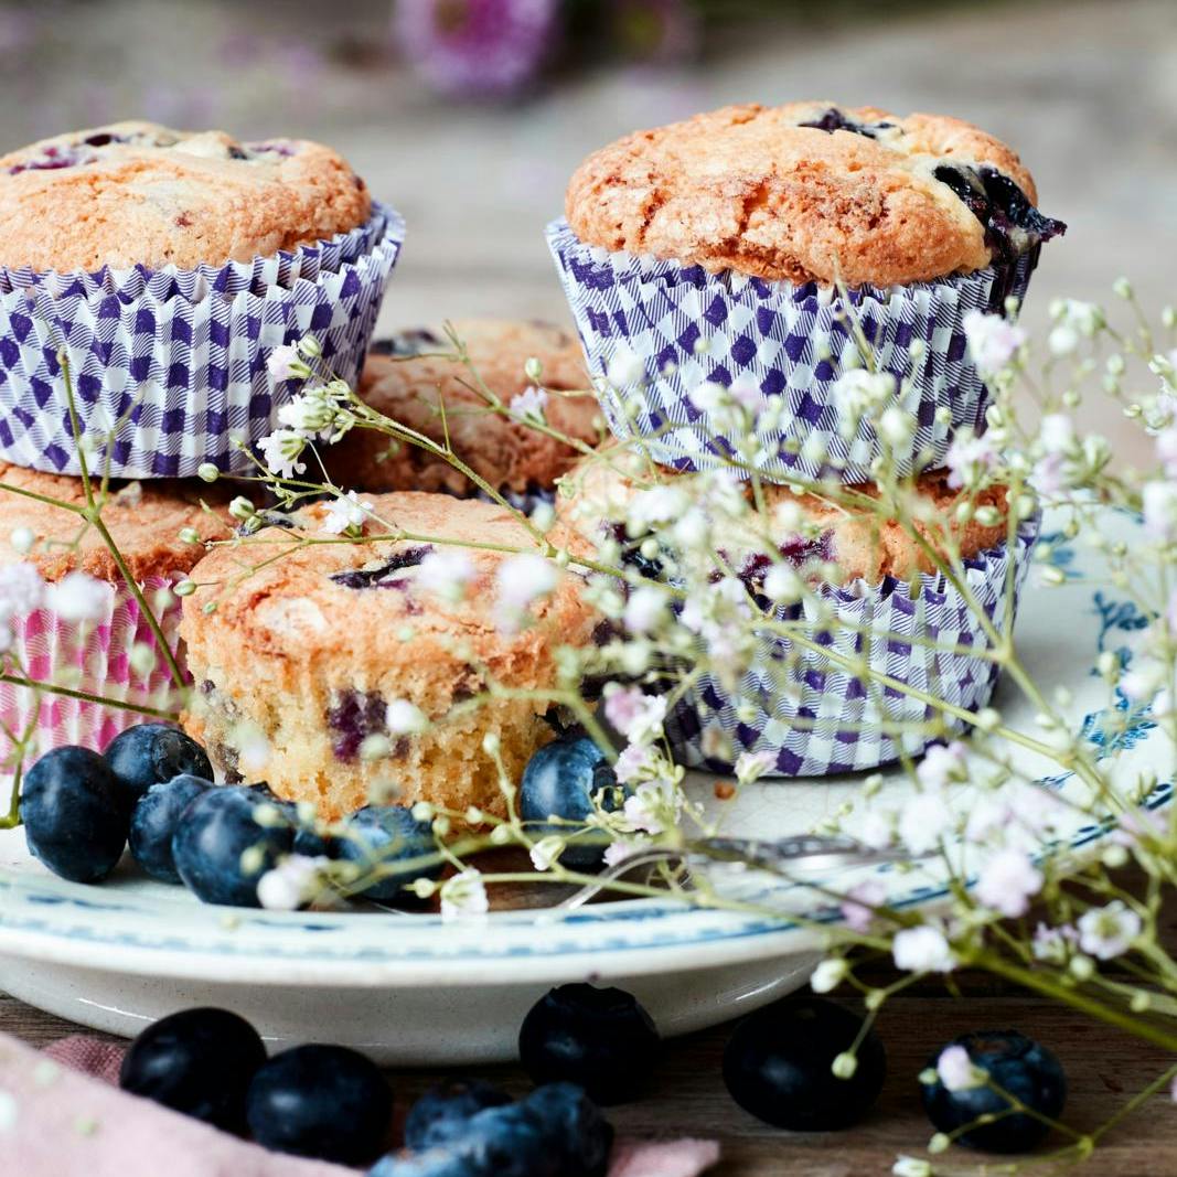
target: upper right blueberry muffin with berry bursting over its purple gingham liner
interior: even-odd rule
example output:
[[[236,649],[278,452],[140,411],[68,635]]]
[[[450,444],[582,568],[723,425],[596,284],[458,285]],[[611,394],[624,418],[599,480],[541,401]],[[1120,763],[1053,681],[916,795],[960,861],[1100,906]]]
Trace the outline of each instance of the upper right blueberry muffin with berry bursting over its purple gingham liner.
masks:
[[[936,468],[984,423],[965,322],[1016,311],[1065,230],[1036,199],[957,119],[731,106],[590,155],[547,238],[613,433],[678,470],[852,484]],[[887,386],[859,417],[863,367]],[[705,407],[707,384],[746,417]],[[878,437],[885,408],[904,443]]]

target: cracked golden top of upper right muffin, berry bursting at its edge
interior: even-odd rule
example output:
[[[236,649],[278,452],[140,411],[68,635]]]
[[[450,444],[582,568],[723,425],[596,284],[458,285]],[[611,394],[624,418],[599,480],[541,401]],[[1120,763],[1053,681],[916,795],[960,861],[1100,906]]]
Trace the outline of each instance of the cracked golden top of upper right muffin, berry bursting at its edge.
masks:
[[[590,245],[770,280],[892,286],[1006,261],[1065,226],[1015,152],[959,119],[830,102],[727,106],[590,155]]]

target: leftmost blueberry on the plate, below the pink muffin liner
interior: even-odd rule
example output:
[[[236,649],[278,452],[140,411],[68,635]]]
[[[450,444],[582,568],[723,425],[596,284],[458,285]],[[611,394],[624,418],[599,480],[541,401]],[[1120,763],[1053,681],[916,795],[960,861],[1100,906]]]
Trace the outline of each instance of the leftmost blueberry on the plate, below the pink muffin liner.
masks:
[[[126,849],[132,802],[98,752],[56,747],[28,770],[21,789],[29,852],[54,875],[98,883]]]

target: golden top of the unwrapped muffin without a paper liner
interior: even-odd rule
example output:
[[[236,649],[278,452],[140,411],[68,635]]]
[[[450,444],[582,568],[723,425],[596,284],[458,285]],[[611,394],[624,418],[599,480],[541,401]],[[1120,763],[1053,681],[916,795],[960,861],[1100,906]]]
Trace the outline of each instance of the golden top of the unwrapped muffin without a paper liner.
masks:
[[[367,541],[299,546],[300,531],[331,538],[324,530],[331,506],[320,503],[291,517],[291,528],[266,528],[200,561],[193,579],[201,587],[184,600],[181,633],[201,665],[228,670],[241,659],[252,664],[266,657],[281,660],[284,673],[318,667],[320,677],[351,680],[358,664],[372,667],[372,678],[400,667],[419,679],[441,677],[450,690],[457,659],[516,686],[538,685],[551,674],[553,638],[574,641],[590,632],[591,613],[571,573],[531,606],[534,624],[518,632],[500,624],[499,570],[511,550],[539,551],[510,512],[447,494],[380,494],[361,501],[371,510]],[[397,538],[406,532],[425,538]],[[378,538],[384,534],[390,538]],[[464,561],[460,600],[419,579],[435,553]],[[244,571],[262,561],[268,563],[258,571]],[[210,600],[217,601],[215,611],[205,613]],[[458,641],[468,646],[468,658],[455,656]]]

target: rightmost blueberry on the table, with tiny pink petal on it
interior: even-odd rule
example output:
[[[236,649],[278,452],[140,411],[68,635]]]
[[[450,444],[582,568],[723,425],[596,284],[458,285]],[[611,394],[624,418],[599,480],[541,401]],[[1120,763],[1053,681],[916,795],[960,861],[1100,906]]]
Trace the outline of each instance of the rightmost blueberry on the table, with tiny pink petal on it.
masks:
[[[949,1043],[964,1046],[973,1066],[1003,1091],[1048,1119],[1058,1119],[1066,1102],[1066,1076],[1045,1046],[1016,1030],[979,1030]],[[943,1050],[929,1062],[935,1068]],[[979,1116],[998,1117],[953,1137],[959,1144],[986,1152],[1026,1152],[1050,1131],[1049,1125],[1022,1112],[1006,1115],[1009,1099],[989,1085],[950,1091],[937,1079],[923,1085],[924,1110],[942,1132],[956,1132]]]

